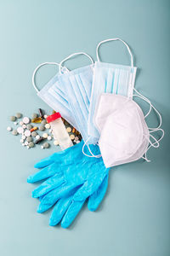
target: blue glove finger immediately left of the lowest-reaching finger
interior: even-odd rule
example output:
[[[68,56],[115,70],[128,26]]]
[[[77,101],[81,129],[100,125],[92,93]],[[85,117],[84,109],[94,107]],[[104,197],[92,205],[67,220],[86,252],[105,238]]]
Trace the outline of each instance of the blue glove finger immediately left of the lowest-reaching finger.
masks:
[[[72,197],[75,194],[77,189],[71,190],[70,195],[65,196],[64,198],[59,199],[56,203],[53,212],[49,218],[49,225],[54,226],[59,224],[65,212],[67,211],[68,207],[71,205]]]

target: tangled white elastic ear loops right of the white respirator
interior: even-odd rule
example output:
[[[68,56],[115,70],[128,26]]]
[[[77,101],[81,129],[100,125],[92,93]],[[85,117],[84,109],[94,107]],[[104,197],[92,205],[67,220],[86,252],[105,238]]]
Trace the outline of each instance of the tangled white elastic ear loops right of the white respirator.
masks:
[[[152,139],[155,141],[155,143],[151,143],[151,141],[150,141],[150,139],[149,139],[150,146],[147,148],[147,150],[146,150],[146,152],[144,153],[144,156],[143,156],[143,159],[144,159],[144,160],[146,160],[147,162],[150,162],[150,160],[148,160],[147,155],[146,155],[147,152],[148,152],[148,150],[149,150],[151,147],[159,148],[159,146],[160,146],[160,143],[159,143],[159,142],[161,141],[161,139],[164,137],[164,134],[165,134],[165,132],[163,131],[163,129],[160,128],[160,127],[161,127],[161,113],[159,113],[159,111],[151,104],[151,102],[150,102],[150,100],[149,100],[148,98],[146,98],[146,97],[143,96],[141,93],[139,93],[139,91],[136,90],[135,88],[134,88],[134,90],[135,90],[136,93],[138,93],[139,95],[133,95],[133,96],[138,96],[139,98],[143,99],[145,102],[148,102],[148,103],[150,104],[150,110],[148,111],[148,113],[146,113],[146,114],[144,115],[144,119],[150,114],[151,108],[153,108],[153,109],[156,111],[156,113],[158,114],[159,119],[160,119],[160,123],[159,123],[159,125],[158,125],[156,128],[150,128],[150,127],[148,127],[148,129],[151,130],[150,133],[151,133],[151,132],[155,132],[155,131],[161,131],[161,132],[162,132],[162,135],[161,135],[161,137],[160,137],[158,140],[156,139],[156,137],[154,137],[153,135],[150,134],[150,137],[152,137]]]

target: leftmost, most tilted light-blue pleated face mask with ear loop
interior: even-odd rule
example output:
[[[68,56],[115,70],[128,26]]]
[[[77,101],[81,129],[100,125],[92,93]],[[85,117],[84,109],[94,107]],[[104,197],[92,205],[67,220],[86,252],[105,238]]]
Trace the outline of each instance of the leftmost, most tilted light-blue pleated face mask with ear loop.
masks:
[[[35,76],[37,70],[44,65],[55,65],[61,67],[60,64],[57,62],[44,62],[36,67],[32,74],[32,84],[35,90],[37,90],[37,96],[39,96],[43,102],[46,102],[50,108],[54,109],[56,112],[59,112],[64,119],[66,119],[71,125],[73,125],[77,129],[77,122],[71,113],[69,103],[66,99],[65,88],[64,86],[60,86],[60,84],[57,84],[59,76],[62,75],[62,73],[69,72],[69,70],[66,67],[61,67],[59,73],[57,73],[53,79],[50,79],[48,84],[44,85],[42,90],[38,90],[35,82]],[[57,93],[54,93],[51,90],[54,85],[56,90],[58,90]],[[59,86],[59,88],[57,86]]]

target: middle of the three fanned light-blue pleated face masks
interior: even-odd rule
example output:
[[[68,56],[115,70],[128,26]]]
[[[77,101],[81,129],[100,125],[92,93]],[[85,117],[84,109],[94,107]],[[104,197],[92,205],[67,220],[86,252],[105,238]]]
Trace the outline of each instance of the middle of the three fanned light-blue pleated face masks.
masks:
[[[88,113],[94,75],[94,61],[85,53],[74,55],[79,54],[88,56],[92,65],[80,67],[69,73],[62,74],[59,76],[59,81],[54,84],[51,90],[55,90],[56,86],[57,88],[60,86],[64,87],[69,108],[77,122],[77,130],[80,131],[83,140],[86,141],[88,139]],[[67,61],[74,55],[68,56],[64,61]],[[61,61],[60,65],[62,65],[64,61]],[[91,142],[89,141],[88,143]]]

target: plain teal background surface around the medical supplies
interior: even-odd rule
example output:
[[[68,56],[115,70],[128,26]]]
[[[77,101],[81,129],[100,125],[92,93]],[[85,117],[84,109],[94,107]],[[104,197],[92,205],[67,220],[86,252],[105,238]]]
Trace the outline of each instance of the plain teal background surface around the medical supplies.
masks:
[[[2,256],[170,255],[170,2],[166,0],[0,1],[1,185],[0,254]],[[51,109],[37,97],[31,74],[43,61],[61,61],[75,51],[95,57],[105,38],[122,38],[133,49],[138,67],[135,87],[162,114],[165,137],[150,149],[151,162],[117,166],[110,174],[105,201],[97,212],[85,206],[68,230],[48,226],[50,212],[38,214],[31,199],[35,185],[26,177],[37,160],[54,147],[27,150],[19,137],[8,134],[9,116]],[[129,63],[121,43],[101,46],[103,61]],[[85,57],[65,63],[88,64]],[[57,72],[42,67],[42,87]],[[140,102],[146,110],[144,102]],[[152,113],[150,125],[157,125]]]

